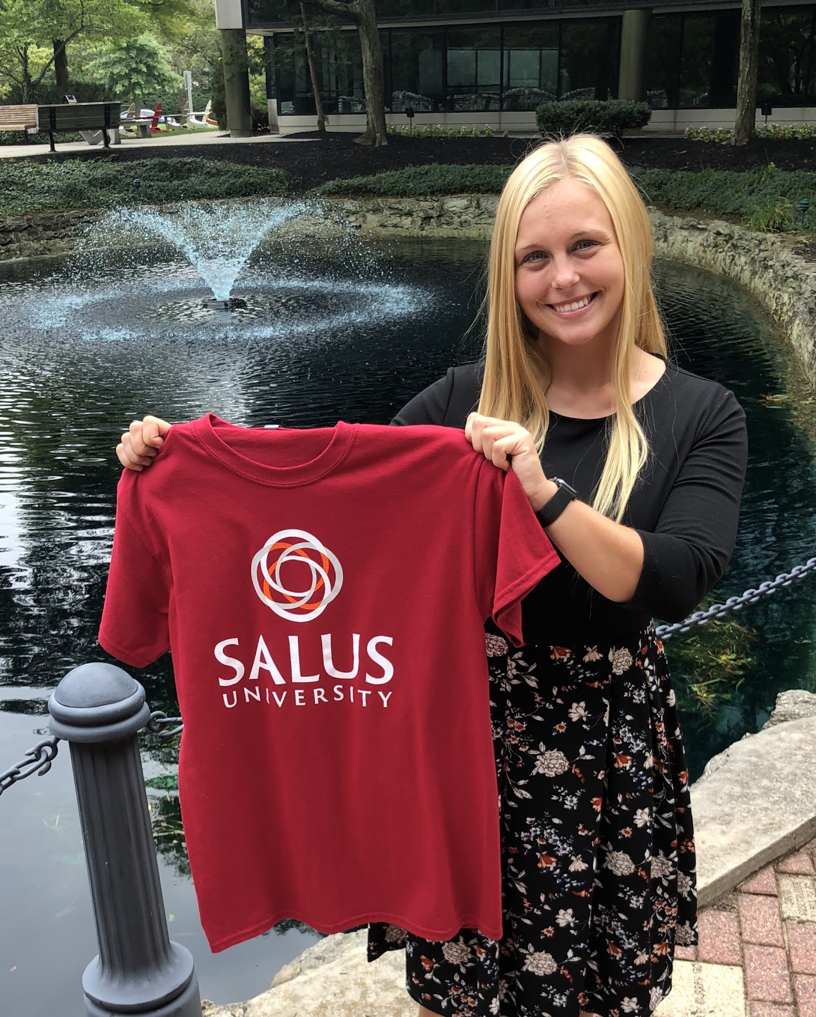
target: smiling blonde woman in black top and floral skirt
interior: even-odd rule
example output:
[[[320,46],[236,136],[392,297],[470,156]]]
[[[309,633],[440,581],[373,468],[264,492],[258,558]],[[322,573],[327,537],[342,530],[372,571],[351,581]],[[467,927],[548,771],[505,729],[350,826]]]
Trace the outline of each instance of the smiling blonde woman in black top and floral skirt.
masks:
[[[394,420],[464,428],[518,475],[563,558],[523,604],[522,650],[487,627],[503,939],[369,926],[369,959],[405,949],[421,1017],[648,1014],[675,945],[697,941],[685,750],[652,617],[685,617],[722,575],[747,440],[734,395],[666,358],[650,266],[646,210],[608,145],[539,145],[497,210],[483,360]],[[168,426],[134,422],[123,465],[149,466]]]

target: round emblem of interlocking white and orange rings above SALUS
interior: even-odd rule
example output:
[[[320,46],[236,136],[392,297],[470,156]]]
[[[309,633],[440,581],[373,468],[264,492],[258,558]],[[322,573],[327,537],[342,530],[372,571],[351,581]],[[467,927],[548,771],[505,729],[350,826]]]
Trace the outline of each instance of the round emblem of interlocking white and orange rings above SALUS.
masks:
[[[295,566],[298,572],[295,572]],[[292,576],[302,575],[290,590]],[[265,604],[290,621],[311,621],[340,592],[343,569],[337,557],[305,530],[279,530],[252,558],[252,586]]]

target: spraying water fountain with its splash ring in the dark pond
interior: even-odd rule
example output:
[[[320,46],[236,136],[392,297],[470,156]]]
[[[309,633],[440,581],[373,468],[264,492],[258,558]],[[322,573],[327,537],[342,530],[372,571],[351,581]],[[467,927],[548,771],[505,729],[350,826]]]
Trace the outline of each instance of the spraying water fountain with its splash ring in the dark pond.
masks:
[[[403,317],[422,300],[306,200],[121,208],[91,227],[70,265],[26,287],[15,331],[21,320],[84,340],[274,340]]]

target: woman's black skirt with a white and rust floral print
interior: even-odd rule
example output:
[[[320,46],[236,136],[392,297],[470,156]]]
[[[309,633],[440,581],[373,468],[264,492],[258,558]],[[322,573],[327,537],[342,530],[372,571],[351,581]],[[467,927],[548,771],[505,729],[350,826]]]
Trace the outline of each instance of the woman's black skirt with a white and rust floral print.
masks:
[[[649,1014],[697,942],[694,833],[675,693],[654,627],[610,645],[509,647],[486,632],[504,937],[405,948],[410,996],[457,1017]]]

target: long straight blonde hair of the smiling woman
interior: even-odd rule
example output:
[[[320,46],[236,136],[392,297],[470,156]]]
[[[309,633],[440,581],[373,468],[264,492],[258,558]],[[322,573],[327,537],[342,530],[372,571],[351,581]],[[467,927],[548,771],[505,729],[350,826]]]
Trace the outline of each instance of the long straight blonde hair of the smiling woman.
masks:
[[[591,187],[605,204],[624,262],[624,296],[615,342],[613,380],[616,412],[607,428],[607,452],[592,505],[621,522],[649,447],[630,403],[636,348],[666,355],[666,343],[651,288],[652,239],[646,206],[621,161],[600,137],[574,134],[544,141],[511,174],[496,212],[487,265],[484,377],[478,412],[516,420],[535,439],[540,455],[549,426],[544,393],[550,369],[537,330],[516,298],[515,246],[522,213],[561,180]]]

